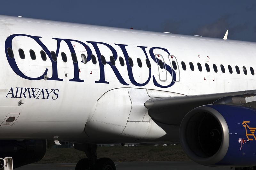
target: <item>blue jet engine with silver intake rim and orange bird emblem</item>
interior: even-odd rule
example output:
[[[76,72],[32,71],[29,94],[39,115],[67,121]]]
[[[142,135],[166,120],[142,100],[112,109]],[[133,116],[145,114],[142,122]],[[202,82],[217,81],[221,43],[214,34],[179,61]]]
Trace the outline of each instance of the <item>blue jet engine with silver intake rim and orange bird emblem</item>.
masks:
[[[206,166],[256,165],[256,109],[212,104],[190,111],[180,125],[188,157]]]

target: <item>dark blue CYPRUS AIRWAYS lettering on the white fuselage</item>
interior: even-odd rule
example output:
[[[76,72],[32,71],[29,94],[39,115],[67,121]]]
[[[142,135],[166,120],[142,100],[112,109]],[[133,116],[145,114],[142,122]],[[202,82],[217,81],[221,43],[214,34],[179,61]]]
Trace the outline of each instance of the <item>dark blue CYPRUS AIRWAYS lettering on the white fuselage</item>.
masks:
[[[44,70],[44,72],[42,72],[42,74],[40,73],[40,76],[38,77],[28,77],[27,75],[24,75],[22,73],[22,71],[20,71],[20,69],[18,68],[18,65],[15,61],[15,57],[13,58],[10,58],[8,56],[8,52],[7,52],[7,48],[12,48],[12,41],[15,37],[17,36],[25,36],[25,37],[28,37],[28,38],[31,38],[33,39],[41,48],[43,48],[43,50],[45,51],[47,57],[50,59],[51,63],[52,63],[52,77],[48,76],[47,75],[47,72],[48,72],[48,69],[46,68]],[[47,75],[48,78],[47,78],[47,81],[48,80],[55,80],[55,81],[63,81],[63,79],[59,78],[58,76],[58,66],[57,66],[57,62],[56,61],[53,61],[52,57],[51,57],[51,52],[50,50],[44,45],[44,43],[40,40],[42,37],[38,37],[38,36],[31,36],[31,35],[26,35],[26,34],[13,34],[13,35],[10,35],[6,41],[5,41],[5,53],[6,53],[6,57],[7,57],[7,61],[8,63],[10,64],[12,70],[17,74],[19,75],[20,77],[22,78],[25,78],[25,79],[28,79],[28,80],[42,80],[44,79],[44,75]],[[132,70],[132,67],[129,65],[129,62],[128,62],[128,58],[129,58],[129,53],[127,52],[126,50],[126,47],[128,45],[126,44],[115,44],[116,48],[121,48],[121,51],[123,54],[117,54],[116,52],[116,49],[107,44],[107,43],[104,43],[104,42],[95,42],[95,41],[86,41],[86,43],[82,42],[82,41],[78,41],[78,40],[71,40],[71,39],[60,39],[60,38],[52,38],[53,40],[56,40],[57,41],[57,48],[56,48],[56,56],[58,58],[59,54],[60,54],[60,43],[61,41],[64,41],[67,45],[68,45],[68,48],[69,48],[69,51],[70,51],[70,54],[71,53],[75,53],[76,54],[76,51],[72,45],[72,42],[76,42],[76,43],[79,43],[81,44],[83,47],[84,47],[84,50],[86,50],[87,52],[87,62],[90,62],[91,61],[91,55],[92,55],[92,50],[91,48],[86,44],[86,43],[89,43],[92,45],[92,47],[94,48],[95,52],[96,52],[96,55],[97,55],[97,58],[98,58],[98,61],[100,61],[100,56],[102,55],[101,52],[100,52],[100,49],[99,49],[99,46],[98,45],[104,45],[106,46],[111,52],[112,52],[112,56],[114,57],[115,61],[118,59],[118,56],[119,55],[123,55],[124,56],[124,59],[125,59],[125,63],[126,63],[126,67],[127,67],[127,72],[128,72],[128,77],[130,79],[130,82],[135,85],[135,86],[145,86],[149,83],[149,81],[151,80],[151,78],[153,79],[153,84],[157,87],[160,87],[160,88],[167,88],[167,87],[171,87],[172,85],[174,85],[174,81],[176,80],[176,74],[175,74],[175,71],[172,70],[171,66],[169,66],[167,63],[165,63],[165,66],[164,66],[164,69],[166,69],[172,76],[172,78],[170,78],[172,81],[169,85],[161,85],[159,83],[159,81],[156,81],[156,77],[153,75],[152,76],[152,70],[151,68],[147,68],[149,71],[148,71],[148,75],[145,75],[146,77],[148,77],[148,79],[145,81],[145,82],[142,82],[142,83],[138,83],[135,78],[134,78],[134,74],[133,74],[133,70]],[[166,56],[170,55],[169,51],[165,48],[161,48],[161,47],[151,47],[151,48],[148,48],[148,47],[145,47],[145,46],[137,46],[137,48],[139,48],[141,50],[141,53],[140,53],[140,56],[145,56],[145,59],[149,59],[151,57],[151,59],[153,59],[153,61],[158,64],[158,60],[156,57],[155,57],[155,54],[154,54],[154,49],[158,49],[158,50],[162,50],[163,51],[163,54],[165,54]],[[149,50],[148,50],[149,49]],[[149,53],[149,56],[148,57],[148,53],[147,51],[148,50],[148,53]],[[95,83],[105,83],[105,84],[109,84],[109,82],[105,79],[105,67],[106,65],[110,66],[110,68],[112,69],[112,71],[114,72],[117,80],[122,84],[122,85],[129,85],[127,83],[127,80],[124,80],[124,78],[122,77],[122,75],[120,74],[119,70],[116,68],[115,65],[112,65],[111,62],[107,61],[106,62],[106,65],[103,65],[101,62],[98,62],[99,64],[99,67],[100,67],[100,79],[95,81]],[[78,68],[78,63],[73,63],[73,67],[74,67],[74,76],[72,79],[69,79],[70,82],[84,82],[84,80],[82,80],[80,77],[79,77],[79,68]],[[109,67],[108,67],[109,68]],[[173,81],[174,80],[174,81]],[[159,82],[159,83],[158,83]],[[19,88],[16,90],[16,92],[13,92],[13,89],[11,88],[9,93],[7,94],[6,97],[8,96],[11,96],[11,98],[21,98],[24,97],[24,98],[34,98],[34,99],[49,99],[49,95],[51,93],[54,93],[56,94],[55,95],[55,98],[57,99],[58,98],[58,94],[56,93],[57,91],[59,91],[58,89],[55,89],[53,91],[49,91],[48,89],[33,89],[33,88],[23,88],[23,87],[16,87],[16,88]],[[29,90],[30,89],[30,90]],[[19,90],[19,94],[18,94],[18,90]],[[35,91],[36,94],[35,94]],[[26,95],[25,95],[26,94]],[[53,100],[56,100],[55,98],[52,98]]]

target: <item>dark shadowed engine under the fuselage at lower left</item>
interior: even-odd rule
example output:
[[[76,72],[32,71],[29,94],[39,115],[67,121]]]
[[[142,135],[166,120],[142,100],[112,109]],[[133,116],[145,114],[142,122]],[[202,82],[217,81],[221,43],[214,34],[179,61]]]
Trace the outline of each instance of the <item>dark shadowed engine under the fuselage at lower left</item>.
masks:
[[[12,157],[13,168],[37,162],[45,152],[45,140],[0,140],[0,157]]]

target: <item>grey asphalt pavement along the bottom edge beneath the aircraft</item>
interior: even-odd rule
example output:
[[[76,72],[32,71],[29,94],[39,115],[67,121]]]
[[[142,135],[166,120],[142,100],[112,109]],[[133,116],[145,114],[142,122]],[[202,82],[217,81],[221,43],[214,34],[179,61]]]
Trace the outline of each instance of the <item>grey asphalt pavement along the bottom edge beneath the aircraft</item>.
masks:
[[[115,162],[116,170],[228,170],[209,167],[193,161]],[[29,164],[15,170],[75,170],[76,164]]]

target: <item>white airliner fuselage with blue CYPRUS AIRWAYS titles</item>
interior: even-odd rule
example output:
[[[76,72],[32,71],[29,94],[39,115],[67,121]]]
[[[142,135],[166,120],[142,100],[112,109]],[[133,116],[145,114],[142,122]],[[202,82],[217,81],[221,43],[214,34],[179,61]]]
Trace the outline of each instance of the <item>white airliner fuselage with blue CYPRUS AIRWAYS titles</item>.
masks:
[[[7,48],[12,48],[14,58],[8,56]],[[144,107],[150,98],[255,89],[256,75],[250,70],[252,67],[256,71],[253,42],[0,16],[0,49],[1,139],[76,143],[175,141],[179,126],[152,121]],[[24,51],[25,59],[20,58],[19,49]],[[31,49],[35,60],[30,57]],[[46,52],[46,61],[41,58],[41,50]],[[56,62],[51,51],[57,55]],[[62,52],[67,55],[66,63]],[[76,54],[77,63],[72,61],[71,53]],[[82,62],[82,54],[87,63]],[[91,54],[95,55],[96,64],[90,60]],[[101,63],[101,55],[106,65]],[[110,56],[115,58],[115,65],[110,63]],[[124,66],[119,57],[124,59]],[[132,58],[133,67],[128,57]],[[164,61],[163,69],[159,59]],[[186,64],[186,70],[181,62]],[[202,65],[202,71],[197,63]],[[6,124],[10,113],[15,122]]]

